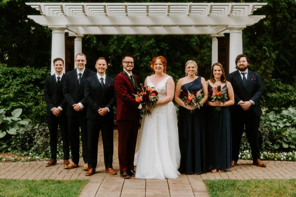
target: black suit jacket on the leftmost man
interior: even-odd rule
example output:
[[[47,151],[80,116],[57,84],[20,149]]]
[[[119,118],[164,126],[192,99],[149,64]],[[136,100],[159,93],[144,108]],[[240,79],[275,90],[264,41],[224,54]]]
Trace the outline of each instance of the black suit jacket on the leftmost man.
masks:
[[[65,74],[60,79],[59,85],[56,83],[55,74],[48,76],[44,82],[44,98],[47,104],[47,116],[55,116],[51,112],[52,108],[61,107],[62,115],[66,113],[67,102],[63,95]]]

